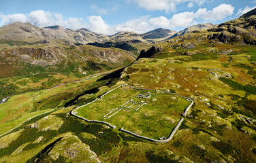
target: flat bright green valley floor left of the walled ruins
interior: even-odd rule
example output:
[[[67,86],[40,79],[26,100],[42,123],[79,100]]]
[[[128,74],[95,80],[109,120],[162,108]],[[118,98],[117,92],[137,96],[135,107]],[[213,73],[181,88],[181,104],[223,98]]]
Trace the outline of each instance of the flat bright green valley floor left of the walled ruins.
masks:
[[[22,124],[31,117],[36,117],[39,114],[56,108],[62,108],[67,101],[74,98],[86,87],[93,85],[93,82],[98,78],[93,77],[84,81],[63,84],[57,88],[35,90],[10,97],[6,103],[0,105],[0,134],[12,130],[12,128]],[[72,81],[74,77],[66,77],[66,80]],[[33,98],[35,98],[34,107]]]

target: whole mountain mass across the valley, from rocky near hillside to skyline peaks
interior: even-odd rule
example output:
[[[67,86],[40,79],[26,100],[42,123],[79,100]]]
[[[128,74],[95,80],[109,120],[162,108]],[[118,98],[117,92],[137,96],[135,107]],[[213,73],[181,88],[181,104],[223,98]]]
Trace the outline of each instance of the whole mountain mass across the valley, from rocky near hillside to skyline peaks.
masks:
[[[206,26],[205,24],[204,28]],[[209,24],[207,27],[210,26]],[[202,26],[193,26],[189,31],[193,31],[192,29],[202,29]],[[84,74],[112,69],[131,63],[140,50],[150,48],[153,42],[182,33],[186,32],[178,34],[176,31],[159,28],[142,34],[122,31],[114,35],[101,35],[87,29],[37,27],[29,22],[13,22],[0,27],[0,57],[5,62],[0,76],[8,77],[20,73],[18,69],[27,64],[33,67],[31,69],[42,67],[42,71],[68,69],[73,73]],[[12,58],[6,55],[12,55]],[[29,66],[23,68],[27,67]],[[21,73],[25,74],[31,69]]]

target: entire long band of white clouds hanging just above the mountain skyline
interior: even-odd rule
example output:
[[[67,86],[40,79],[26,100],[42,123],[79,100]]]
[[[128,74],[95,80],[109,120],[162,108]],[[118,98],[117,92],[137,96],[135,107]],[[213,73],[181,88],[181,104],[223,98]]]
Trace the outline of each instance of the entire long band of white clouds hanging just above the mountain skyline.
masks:
[[[155,0],[153,0],[155,1]],[[178,1],[178,0],[175,0]],[[181,1],[181,0],[179,0]],[[185,0],[189,1],[189,0]],[[195,0],[194,0],[195,1]],[[199,4],[199,1],[196,1]],[[52,26],[60,25],[70,29],[86,28],[96,33],[102,33],[106,35],[112,35],[118,31],[134,31],[135,33],[144,33],[163,27],[167,29],[182,28],[193,24],[197,24],[197,21],[214,22],[231,16],[234,12],[234,7],[228,4],[221,4],[214,7],[212,10],[206,8],[199,8],[196,12],[180,12],[174,14],[171,18],[165,16],[152,17],[141,16],[128,20],[121,24],[112,26],[105,22],[101,16],[88,16],[86,20],[83,18],[63,18],[62,14],[46,12],[44,10],[36,10],[29,14],[13,14],[13,15],[1,15],[1,23],[7,24],[14,21],[31,22],[36,26]]]

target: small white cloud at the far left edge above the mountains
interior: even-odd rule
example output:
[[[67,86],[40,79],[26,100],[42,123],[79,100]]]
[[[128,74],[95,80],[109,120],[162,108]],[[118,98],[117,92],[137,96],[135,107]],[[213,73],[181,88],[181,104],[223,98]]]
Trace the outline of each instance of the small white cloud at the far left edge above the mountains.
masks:
[[[2,15],[0,14],[1,24],[9,24],[11,22],[27,22],[25,14]]]

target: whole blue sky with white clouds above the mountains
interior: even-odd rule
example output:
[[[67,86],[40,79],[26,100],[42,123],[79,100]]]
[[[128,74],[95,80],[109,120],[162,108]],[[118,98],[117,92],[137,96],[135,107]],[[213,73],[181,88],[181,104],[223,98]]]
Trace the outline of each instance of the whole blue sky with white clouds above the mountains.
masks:
[[[113,35],[220,24],[253,10],[256,0],[0,0],[0,4],[0,26],[18,21]]]

